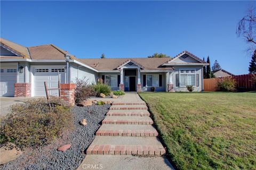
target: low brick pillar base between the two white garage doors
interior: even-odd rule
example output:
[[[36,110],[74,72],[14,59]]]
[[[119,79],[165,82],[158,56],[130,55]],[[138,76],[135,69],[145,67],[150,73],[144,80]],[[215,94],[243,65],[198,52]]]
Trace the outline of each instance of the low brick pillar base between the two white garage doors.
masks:
[[[14,97],[30,97],[30,83],[14,83]]]

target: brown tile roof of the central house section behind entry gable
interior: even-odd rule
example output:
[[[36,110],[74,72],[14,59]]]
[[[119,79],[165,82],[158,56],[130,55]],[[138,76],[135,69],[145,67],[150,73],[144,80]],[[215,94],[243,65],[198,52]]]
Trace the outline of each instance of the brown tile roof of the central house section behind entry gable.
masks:
[[[172,67],[163,67],[169,57],[163,58],[79,58],[82,63],[100,71],[117,70],[117,67],[127,61],[134,61],[143,66],[144,70],[173,70]]]

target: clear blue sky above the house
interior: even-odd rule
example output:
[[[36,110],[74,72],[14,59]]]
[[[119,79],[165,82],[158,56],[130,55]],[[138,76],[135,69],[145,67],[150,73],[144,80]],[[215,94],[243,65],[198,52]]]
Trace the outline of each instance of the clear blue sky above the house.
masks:
[[[1,37],[54,44],[78,58],[175,56],[183,50],[248,73],[236,25],[255,1],[1,1]]]

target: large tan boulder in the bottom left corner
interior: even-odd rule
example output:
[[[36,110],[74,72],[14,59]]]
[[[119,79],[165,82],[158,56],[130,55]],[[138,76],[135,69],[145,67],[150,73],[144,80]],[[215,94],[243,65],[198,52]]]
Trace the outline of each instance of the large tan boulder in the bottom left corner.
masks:
[[[0,157],[1,157],[0,164],[1,165],[15,160],[22,154],[22,152],[20,150],[15,148],[15,145],[13,143],[9,143],[8,145],[11,147],[10,148],[9,147],[0,148]]]

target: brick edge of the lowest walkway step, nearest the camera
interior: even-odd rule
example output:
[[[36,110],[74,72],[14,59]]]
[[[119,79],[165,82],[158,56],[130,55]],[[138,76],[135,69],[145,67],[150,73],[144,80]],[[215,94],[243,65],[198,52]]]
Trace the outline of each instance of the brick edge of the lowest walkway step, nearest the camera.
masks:
[[[90,145],[88,155],[157,155],[165,154],[162,145]]]

